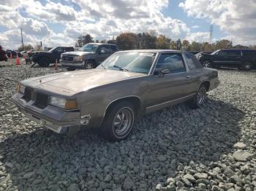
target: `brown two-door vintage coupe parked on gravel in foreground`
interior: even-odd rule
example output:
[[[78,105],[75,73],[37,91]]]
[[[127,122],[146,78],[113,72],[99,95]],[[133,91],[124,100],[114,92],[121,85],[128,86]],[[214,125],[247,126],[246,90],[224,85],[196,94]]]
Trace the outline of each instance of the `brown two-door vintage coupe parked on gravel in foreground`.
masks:
[[[106,139],[120,141],[136,117],[185,101],[196,109],[218,85],[217,70],[203,68],[188,52],[129,50],[114,53],[97,69],[23,80],[12,101],[56,133],[101,127]]]

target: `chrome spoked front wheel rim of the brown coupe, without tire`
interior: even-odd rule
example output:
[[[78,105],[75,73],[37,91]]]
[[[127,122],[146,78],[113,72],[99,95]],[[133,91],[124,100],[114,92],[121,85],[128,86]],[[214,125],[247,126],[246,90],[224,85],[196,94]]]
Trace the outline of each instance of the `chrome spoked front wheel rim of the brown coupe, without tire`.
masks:
[[[113,132],[116,136],[124,136],[133,125],[133,112],[128,107],[120,109],[113,120]]]

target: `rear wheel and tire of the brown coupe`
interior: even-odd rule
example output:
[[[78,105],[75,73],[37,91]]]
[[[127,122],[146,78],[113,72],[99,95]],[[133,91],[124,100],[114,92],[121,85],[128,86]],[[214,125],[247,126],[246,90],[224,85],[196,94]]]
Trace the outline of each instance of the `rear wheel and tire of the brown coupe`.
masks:
[[[206,86],[201,85],[195,94],[194,98],[189,101],[189,107],[192,109],[197,109],[203,106],[206,101]]]

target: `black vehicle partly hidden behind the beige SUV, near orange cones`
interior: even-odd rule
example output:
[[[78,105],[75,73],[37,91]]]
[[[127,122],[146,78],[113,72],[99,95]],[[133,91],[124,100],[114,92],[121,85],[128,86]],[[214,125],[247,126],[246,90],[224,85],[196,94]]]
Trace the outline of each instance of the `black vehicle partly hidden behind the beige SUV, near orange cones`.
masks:
[[[37,51],[31,56],[31,61],[38,63],[39,66],[49,66],[50,63],[59,62],[61,54],[74,51],[74,47],[53,47],[48,52]]]

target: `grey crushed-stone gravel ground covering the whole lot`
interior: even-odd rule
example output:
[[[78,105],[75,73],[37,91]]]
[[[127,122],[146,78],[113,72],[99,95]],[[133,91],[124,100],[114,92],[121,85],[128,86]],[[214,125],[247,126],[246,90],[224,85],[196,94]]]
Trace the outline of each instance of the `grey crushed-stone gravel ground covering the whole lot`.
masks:
[[[18,112],[17,82],[59,71],[0,67],[0,190],[256,190],[255,71],[220,70],[201,109],[141,117],[118,143],[61,136]]]

